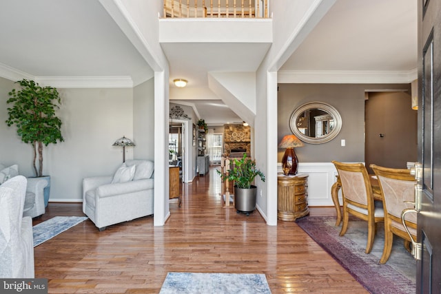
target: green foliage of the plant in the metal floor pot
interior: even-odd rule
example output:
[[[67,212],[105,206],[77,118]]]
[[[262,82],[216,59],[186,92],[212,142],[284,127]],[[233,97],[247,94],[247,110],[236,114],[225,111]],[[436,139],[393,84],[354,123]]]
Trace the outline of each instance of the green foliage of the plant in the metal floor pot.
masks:
[[[234,167],[229,170],[228,175],[222,174],[219,170],[217,173],[223,180],[234,181],[234,184],[241,189],[249,189],[256,176],[265,182],[265,175],[256,168],[256,160],[247,158],[247,154],[243,154],[243,158],[240,160],[234,159]]]

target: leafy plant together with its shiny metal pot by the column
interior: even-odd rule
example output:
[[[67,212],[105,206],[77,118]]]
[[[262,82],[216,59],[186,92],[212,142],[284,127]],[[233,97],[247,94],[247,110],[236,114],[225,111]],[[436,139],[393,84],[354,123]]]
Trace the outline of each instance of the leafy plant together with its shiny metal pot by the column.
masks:
[[[234,167],[227,174],[217,171],[223,180],[234,181],[234,208],[238,212],[247,213],[256,209],[257,187],[252,185],[256,176],[265,182],[265,175],[256,168],[256,161],[243,154],[240,160],[234,159]]]

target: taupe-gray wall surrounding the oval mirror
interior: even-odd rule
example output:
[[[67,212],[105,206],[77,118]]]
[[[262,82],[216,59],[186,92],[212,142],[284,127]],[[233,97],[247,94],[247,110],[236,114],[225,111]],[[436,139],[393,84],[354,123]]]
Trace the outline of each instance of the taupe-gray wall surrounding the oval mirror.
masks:
[[[278,142],[287,134],[289,118],[294,109],[311,101],[334,106],[342,117],[342,129],[334,140],[324,144],[305,143],[296,148],[299,162],[363,162],[365,160],[365,90],[409,90],[409,84],[279,84],[278,85]],[[340,141],[346,140],[341,147]],[[285,149],[278,149],[281,162]]]

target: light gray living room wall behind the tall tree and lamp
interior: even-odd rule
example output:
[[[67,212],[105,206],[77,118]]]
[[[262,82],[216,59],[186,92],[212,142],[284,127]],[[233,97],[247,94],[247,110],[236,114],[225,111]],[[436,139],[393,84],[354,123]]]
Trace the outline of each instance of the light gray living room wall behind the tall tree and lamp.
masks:
[[[8,117],[6,100],[12,87],[12,81],[0,78],[0,162],[17,163],[20,174],[33,176],[32,147],[21,142],[16,127],[4,123]],[[145,95],[139,94],[144,87]],[[132,88],[59,89],[62,105],[57,115],[63,122],[61,132],[65,141],[49,145],[43,151],[43,173],[51,176],[50,201],[81,201],[83,178],[114,174],[123,161],[123,154],[121,147],[112,147],[112,144],[121,136],[132,138],[136,143],[139,140],[143,148],[141,155],[153,158],[153,147],[143,143],[154,144],[153,132],[147,132],[153,129],[153,116],[142,119],[144,127],[134,138],[134,121],[150,111],[148,105],[154,100],[152,90],[148,85],[140,85],[136,92],[139,109],[134,114]],[[146,102],[141,103],[142,99]],[[137,147],[127,148],[126,158],[133,158]]]

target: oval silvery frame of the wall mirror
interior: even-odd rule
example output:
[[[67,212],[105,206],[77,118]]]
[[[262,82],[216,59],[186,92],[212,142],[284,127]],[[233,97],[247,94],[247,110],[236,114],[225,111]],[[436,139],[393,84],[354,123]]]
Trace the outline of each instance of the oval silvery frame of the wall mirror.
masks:
[[[327,112],[334,118],[334,128],[331,130],[331,132],[329,132],[329,134],[326,134],[325,136],[321,136],[319,138],[312,138],[306,136],[305,134],[303,134],[298,130],[296,125],[297,118],[298,116],[300,116],[300,114],[307,111],[308,109],[320,109],[324,112]],[[340,116],[338,110],[335,109],[332,105],[319,101],[309,102],[304,105],[301,105],[300,107],[294,110],[294,112],[291,114],[291,117],[289,118],[289,128],[291,129],[291,132],[293,132],[293,134],[297,136],[297,138],[299,138],[305,143],[310,143],[310,144],[327,143],[330,140],[336,138],[338,133],[340,133],[340,130],[342,129],[342,117]]]

